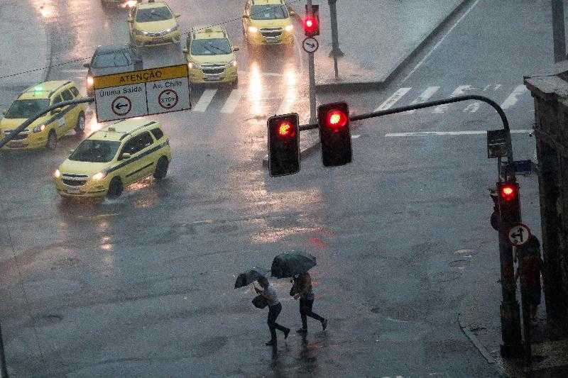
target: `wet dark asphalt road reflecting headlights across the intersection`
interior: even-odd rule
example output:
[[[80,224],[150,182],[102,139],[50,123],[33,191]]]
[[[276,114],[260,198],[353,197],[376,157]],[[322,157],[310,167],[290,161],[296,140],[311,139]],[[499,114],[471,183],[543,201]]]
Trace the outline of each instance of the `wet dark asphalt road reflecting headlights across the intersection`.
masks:
[[[550,58],[542,38],[523,40],[530,59],[514,47],[522,33],[510,28],[528,15],[547,17],[539,2],[522,2],[513,11],[481,1],[414,72],[420,59],[381,91],[320,100],[347,99],[358,113],[400,88],[410,89],[396,106],[428,87],[439,87],[435,99],[469,85],[501,103]],[[122,9],[86,0],[29,4],[52,35],[53,62],[126,42]],[[170,4],[183,30],[236,18],[243,6]],[[509,26],[496,21],[499,12],[515,14]],[[485,136],[388,134],[500,128],[498,117],[484,106],[464,112],[464,104],[366,121],[352,130],[351,165],[324,169],[316,151],[299,174],[271,179],[261,166],[266,118],[293,109],[307,120],[305,63],[297,48],[249,55],[239,22],[224,26],[241,47],[241,92],[193,89],[194,105],[214,91],[204,111],[152,117],[174,153],[164,182],[143,180],[113,201],[67,204],[50,174],[79,142],[74,135],[54,153],[2,155],[0,321],[11,376],[493,376],[457,324],[464,295],[479,280],[498,279],[486,191],[496,167],[485,157]],[[476,43],[490,38],[508,43]],[[181,53],[170,46],[144,57],[155,67]],[[508,70],[499,68],[503,57]],[[53,67],[49,78],[80,82],[81,65]],[[234,109],[226,106],[231,96],[239,96]],[[530,128],[530,96],[507,112],[511,128]],[[87,127],[101,125],[91,119]],[[515,135],[515,157],[530,158],[533,143]],[[520,183],[523,216],[536,229],[536,179]],[[251,306],[252,289],[233,289],[234,279],[288,250],[317,257],[315,311],[329,317],[329,328],[312,322],[307,338],[291,334],[271,350],[263,345],[266,311]],[[275,286],[280,323],[299,327],[290,283]]]

